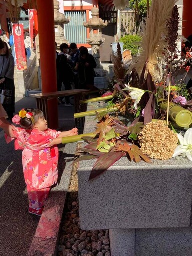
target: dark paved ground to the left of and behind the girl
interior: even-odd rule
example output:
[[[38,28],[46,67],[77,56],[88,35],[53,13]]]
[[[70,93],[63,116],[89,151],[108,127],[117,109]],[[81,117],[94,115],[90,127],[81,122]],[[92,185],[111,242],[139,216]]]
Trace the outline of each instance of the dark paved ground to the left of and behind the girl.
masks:
[[[16,112],[24,107],[36,107],[35,99],[24,97],[15,104]],[[61,130],[74,127],[74,107],[59,105]],[[0,256],[26,256],[30,248],[39,217],[28,213],[27,193],[22,172],[21,150],[14,143],[6,144],[0,131]],[[64,145],[59,145],[63,153]]]

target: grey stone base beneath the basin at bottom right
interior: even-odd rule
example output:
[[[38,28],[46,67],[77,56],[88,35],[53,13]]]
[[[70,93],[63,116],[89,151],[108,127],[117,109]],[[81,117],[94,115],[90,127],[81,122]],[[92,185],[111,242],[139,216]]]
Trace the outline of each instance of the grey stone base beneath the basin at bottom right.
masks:
[[[111,256],[191,256],[192,229],[110,229]]]

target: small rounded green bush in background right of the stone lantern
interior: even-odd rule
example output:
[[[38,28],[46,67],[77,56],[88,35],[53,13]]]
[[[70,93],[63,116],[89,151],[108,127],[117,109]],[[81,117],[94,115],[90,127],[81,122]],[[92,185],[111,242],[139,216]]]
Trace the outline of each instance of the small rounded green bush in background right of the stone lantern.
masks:
[[[136,55],[139,49],[139,42],[141,41],[141,36],[139,35],[125,35],[120,38],[120,42],[123,42],[123,50],[131,50],[132,55]]]

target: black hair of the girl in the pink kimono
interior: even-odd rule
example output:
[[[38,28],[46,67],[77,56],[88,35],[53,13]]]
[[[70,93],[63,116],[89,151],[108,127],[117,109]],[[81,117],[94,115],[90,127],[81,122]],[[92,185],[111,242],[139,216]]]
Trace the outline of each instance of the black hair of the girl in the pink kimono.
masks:
[[[33,115],[34,123],[32,122],[31,118],[21,118],[20,119],[20,126],[24,129],[31,130],[34,127],[34,124],[41,118],[44,117],[44,114],[42,111],[38,109],[33,109],[33,108],[25,108],[24,109],[26,112],[31,112]]]

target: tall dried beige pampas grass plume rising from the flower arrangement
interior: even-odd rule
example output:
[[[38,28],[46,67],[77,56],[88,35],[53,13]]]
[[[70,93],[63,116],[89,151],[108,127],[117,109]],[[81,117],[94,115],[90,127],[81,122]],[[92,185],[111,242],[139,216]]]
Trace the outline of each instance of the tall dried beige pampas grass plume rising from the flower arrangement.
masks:
[[[154,79],[159,79],[159,70],[157,70],[159,57],[163,57],[163,49],[167,48],[166,22],[171,17],[176,2],[177,0],[152,0],[146,25],[141,35],[141,54],[135,64],[138,73],[141,73],[147,61],[146,71],[149,71]]]

